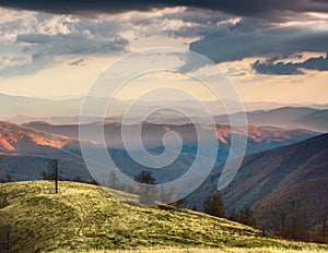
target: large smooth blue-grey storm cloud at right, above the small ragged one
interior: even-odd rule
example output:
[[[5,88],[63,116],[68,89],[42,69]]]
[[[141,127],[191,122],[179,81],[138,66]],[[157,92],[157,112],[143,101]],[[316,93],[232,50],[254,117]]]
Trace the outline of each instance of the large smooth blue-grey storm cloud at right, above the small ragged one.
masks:
[[[222,31],[190,44],[190,50],[220,63],[248,57],[291,56],[302,51],[328,51],[326,31],[263,28],[253,32]]]

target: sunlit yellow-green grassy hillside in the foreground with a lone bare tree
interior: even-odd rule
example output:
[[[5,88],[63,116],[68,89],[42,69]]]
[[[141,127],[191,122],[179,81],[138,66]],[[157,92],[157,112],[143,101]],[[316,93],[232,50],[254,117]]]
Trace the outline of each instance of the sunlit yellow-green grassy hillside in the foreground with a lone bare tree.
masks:
[[[9,205],[0,224],[12,224],[12,252],[92,249],[270,248],[328,250],[327,245],[261,238],[260,231],[200,213],[134,206],[99,186],[47,181],[0,184]]]

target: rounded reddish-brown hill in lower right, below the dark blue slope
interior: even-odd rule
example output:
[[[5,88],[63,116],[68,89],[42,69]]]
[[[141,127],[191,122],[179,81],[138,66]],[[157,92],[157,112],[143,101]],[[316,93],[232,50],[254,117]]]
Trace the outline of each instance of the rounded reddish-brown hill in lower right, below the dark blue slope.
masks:
[[[289,232],[283,230],[292,227],[293,218],[301,229],[314,228],[320,225],[327,215],[327,185],[328,178],[325,177],[278,190],[253,207],[255,216],[258,220],[267,221],[270,227],[276,227],[282,234]],[[295,215],[293,212],[297,212],[297,216],[292,217]],[[281,227],[281,216],[284,217],[284,228]]]

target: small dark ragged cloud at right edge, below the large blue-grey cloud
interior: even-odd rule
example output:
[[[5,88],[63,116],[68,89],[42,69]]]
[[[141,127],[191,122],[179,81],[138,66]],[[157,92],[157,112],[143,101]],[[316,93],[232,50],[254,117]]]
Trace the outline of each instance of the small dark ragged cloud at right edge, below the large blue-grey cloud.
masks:
[[[256,61],[253,69],[261,74],[303,74],[303,70],[328,71],[328,53],[326,57],[309,58],[303,62],[276,62],[274,59]]]

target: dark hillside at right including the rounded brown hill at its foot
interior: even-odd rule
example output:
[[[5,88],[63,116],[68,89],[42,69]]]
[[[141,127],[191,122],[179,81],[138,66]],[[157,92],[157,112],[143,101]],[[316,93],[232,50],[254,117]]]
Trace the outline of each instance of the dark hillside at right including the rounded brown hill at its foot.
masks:
[[[272,207],[290,213],[291,203],[298,203],[307,228],[314,228],[328,210],[327,157],[328,134],[246,156],[236,177],[222,192],[227,213],[249,207],[260,220],[270,217]],[[215,192],[222,168],[214,169],[189,196],[190,203],[201,208],[199,200]]]

